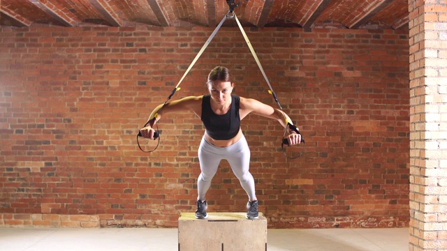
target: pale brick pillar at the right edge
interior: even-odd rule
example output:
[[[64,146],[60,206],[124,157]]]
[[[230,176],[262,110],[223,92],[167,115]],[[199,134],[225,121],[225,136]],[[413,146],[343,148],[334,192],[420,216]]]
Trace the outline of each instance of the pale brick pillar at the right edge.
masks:
[[[409,250],[447,247],[447,2],[409,0]]]

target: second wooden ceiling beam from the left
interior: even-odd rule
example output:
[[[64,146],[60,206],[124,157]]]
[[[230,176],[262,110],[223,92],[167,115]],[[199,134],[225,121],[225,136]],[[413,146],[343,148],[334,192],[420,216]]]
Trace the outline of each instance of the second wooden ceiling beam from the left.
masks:
[[[73,13],[65,13],[64,8],[62,6],[55,6],[54,3],[50,3],[47,0],[28,0],[33,3],[35,6],[43,10],[45,13],[50,15],[50,17],[54,18],[64,24],[64,26],[77,26],[81,21],[78,17],[75,17]]]

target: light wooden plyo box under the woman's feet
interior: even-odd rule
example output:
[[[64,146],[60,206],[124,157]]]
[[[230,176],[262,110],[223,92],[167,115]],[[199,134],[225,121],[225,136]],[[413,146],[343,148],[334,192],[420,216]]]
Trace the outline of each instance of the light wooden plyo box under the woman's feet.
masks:
[[[194,213],[179,217],[179,251],[267,250],[267,219],[262,213],[247,220],[246,213],[208,213],[198,220]]]

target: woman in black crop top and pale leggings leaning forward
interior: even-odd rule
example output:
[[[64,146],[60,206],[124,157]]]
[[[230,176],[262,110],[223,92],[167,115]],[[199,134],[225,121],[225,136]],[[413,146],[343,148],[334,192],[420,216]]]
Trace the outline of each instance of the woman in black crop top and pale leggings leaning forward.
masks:
[[[286,121],[291,121],[291,119],[281,110],[274,109],[258,100],[232,95],[235,84],[225,67],[217,66],[211,70],[207,87],[210,92],[207,95],[189,96],[170,102],[164,107],[163,105],[156,107],[149,116],[149,125],[140,130],[141,135],[147,139],[154,139],[154,124],[165,114],[184,111],[195,113],[206,129],[198,149],[201,173],[197,181],[196,218],[208,217],[205,195],[219,163],[226,159],[249,197],[247,219],[256,219],[258,218],[258,199],[255,194],[254,178],[249,172],[250,150],[240,129],[240,121],[248,114],[254,113],[276,119],[286,127]],[[289,133],[288,144],[300,144],[301,135],[293,130],[289,130]]]

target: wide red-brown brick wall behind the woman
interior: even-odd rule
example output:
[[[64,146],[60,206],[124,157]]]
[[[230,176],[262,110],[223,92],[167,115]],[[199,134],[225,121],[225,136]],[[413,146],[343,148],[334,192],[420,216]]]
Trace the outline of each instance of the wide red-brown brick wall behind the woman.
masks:
[[[150,154],[138,150],[135,135],[211,32],[0,29],[0,225],[97,215],[103,227],[176,227],[179,213],[194,211],[200,120],[163,119]],[[306,139],[304,148],[288,149],[305,151],[302,158],[288,160],[276,121],[242,121],[269,227],[408,225],[408,31],[247,34]],[[235,27],[217,33],[174,98],[205,93],[217,65],[230,68],[238,95],[277,107]],[[207,199],[212,212],[245,211],[247,195],[227,162]]]

